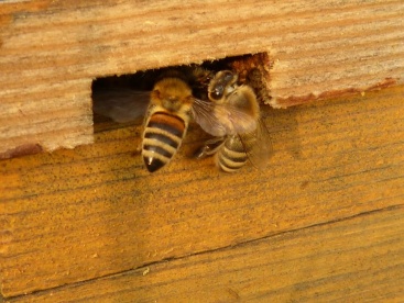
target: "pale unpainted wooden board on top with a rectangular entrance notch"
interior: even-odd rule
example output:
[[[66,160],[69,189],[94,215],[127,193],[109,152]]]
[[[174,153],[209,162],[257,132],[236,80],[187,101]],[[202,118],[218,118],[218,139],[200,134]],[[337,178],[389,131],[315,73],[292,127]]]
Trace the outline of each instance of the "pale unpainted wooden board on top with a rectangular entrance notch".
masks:
[[[273,105],[402,83],[404,2],[0,3],[0,155],[91,143],[97,77],[267,52]]]

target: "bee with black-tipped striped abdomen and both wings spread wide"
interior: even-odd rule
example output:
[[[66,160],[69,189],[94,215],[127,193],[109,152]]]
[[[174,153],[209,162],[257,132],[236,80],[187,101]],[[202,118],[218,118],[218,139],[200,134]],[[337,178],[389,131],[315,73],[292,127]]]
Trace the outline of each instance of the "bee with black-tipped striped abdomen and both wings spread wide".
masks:
[[[248,130],[244,124],[255,123],[231,102],[220,104],[207,100],[209,77],[211,72],[201,68],[167,70],[157,78],[151,92],[120,89],[94,92],[94,111],[117,122],[128,122],[144,111],[142,104],[149,103],[141,154],[146,169],[154,172],[173,159],[192,116],[214,136],[237,134]]]

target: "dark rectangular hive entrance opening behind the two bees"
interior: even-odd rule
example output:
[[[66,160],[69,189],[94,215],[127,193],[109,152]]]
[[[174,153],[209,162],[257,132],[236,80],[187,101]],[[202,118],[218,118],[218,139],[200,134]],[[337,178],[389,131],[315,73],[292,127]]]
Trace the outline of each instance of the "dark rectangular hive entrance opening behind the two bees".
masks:
[[[200,65],[172,66],[130,75],[101,77],[95,79],[91,86],[95,130],[99,131],[102,128],[100,126],[102,123],[111,121],[109,119],[111,117],[111,109],[117,110],[117,106],[120,106],[123,111],[118,115],[124,115],[125,112],[131,111],[128,114],[135,116],[131,122],[128,120],[123,121],[124,123],[142,123],[148,105],[146,100],[143,99],[146,99],[148,92],[153,89],[160,75],[170,69],[184,70],[195,67],[201,67],[214,72],[225,69],[233,70],[239,74],[240,83],[248,83],[255,90],[260,102],[266,103],[271,99],[267,89],[271,63],[266,53],[227,57],[215,61],[205,61]],[[131,97],[128,98],[128,94]],[[125,104],[125,102],[131,102],[131,105]],[[112,120],[116,119],[112,117]]]

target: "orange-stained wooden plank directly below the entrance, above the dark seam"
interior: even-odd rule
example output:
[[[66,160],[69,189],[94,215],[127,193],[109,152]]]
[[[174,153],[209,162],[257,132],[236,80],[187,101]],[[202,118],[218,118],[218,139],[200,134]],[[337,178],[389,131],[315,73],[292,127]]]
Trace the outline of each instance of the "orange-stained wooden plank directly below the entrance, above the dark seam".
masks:
[[[266,111],[270,167],[227,175],[179,155],[150,175],[140,126],[94,145],[1,161],[4,296],[403,204],[404,88]]]

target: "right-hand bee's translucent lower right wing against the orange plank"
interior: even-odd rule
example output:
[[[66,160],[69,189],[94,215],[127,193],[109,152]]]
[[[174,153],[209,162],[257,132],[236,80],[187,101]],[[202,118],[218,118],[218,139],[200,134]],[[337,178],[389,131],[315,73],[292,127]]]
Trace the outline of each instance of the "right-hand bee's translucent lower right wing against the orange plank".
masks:
[[[273,145],[265,123],[260,119],[255,130],[255,138],[247,139],[245,136],[239,135],[241,143],[247,150],[249,161],[258,169],[264,170],[273,155]]]

